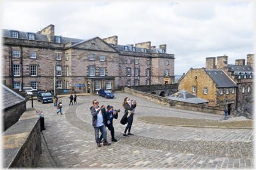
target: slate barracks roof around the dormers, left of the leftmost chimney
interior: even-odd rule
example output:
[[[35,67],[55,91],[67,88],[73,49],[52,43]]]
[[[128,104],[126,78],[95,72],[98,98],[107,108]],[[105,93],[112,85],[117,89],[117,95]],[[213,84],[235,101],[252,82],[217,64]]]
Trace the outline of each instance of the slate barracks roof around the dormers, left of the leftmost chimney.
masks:
[[[9,31],[16,31],[16,30],[2,30],[2,36],[3,37],[9,37],[10,38],[10,34],[9,34]],[[17,31],[19,32],[18,33],[18,38],[21,38],[21,39],[26,39],[28,40],[27,38],[27,33],[32,33],[32,34],[35,34],[35,40],[36,41],[48,41],[49,42],[49,39],[47,37],[46,34],[36,34],[36,33],[33,33],[33,32],[23,32],[23,31]]]

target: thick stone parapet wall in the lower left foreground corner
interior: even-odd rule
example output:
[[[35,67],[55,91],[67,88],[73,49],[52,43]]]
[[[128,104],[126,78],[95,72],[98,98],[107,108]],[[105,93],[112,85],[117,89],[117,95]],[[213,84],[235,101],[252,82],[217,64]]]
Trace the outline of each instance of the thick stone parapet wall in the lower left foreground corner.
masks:
[[[2,133],[3,167],[36,168],[41,153],[40,119],[34,108]]]

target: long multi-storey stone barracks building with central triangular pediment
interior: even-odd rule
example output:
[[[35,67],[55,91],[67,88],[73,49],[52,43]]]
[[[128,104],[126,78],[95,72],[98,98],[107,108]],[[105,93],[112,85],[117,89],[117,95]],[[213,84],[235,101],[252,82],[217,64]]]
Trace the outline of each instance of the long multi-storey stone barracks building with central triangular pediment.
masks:
[[[15,89],[74,89],[97,93],[119,86],[174,84],[174,54],[151,42],[119,45],[118,37],[82,40],[39,32],[3,31],[3,77]],[[54,77],[55,75],[55,82]],[[55,85],[54,85],[55,84]],[[79,86],[78,86],[79,85]]]

